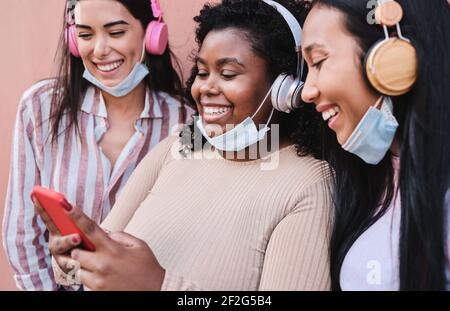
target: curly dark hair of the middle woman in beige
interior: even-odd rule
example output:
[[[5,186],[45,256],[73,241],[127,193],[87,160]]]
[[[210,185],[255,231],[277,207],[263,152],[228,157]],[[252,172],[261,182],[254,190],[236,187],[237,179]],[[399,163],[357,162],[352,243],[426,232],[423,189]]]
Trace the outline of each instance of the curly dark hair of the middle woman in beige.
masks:
[[[305,19],[303,1],[278,0],[302,24]],[[297,71],[297,54],[294,50],[295,41],[283,16],[272,6],[261,0],[223,0],[219,4],[207,3],[200,14],[194,17],[197,23],[196,42],[198,50],[191,55],[195,61],[203,41],[210,31],[234,28],[242,31],[248,39],[253,52],[267,63],[267,72],[273,82],[282,73],[295,75]],[[186,96],[196,109],[191,96],[191,87],[198,74],[197,66],[192,68],[191,75],[186,81]],[[198,112],[197,112],[198,113]],[[278,113],[280,135],[288,137],[296,143],[299,156],[312,154],[321,157],[319,139],[321,122],[320,115],[313,105],[302,104],[299,109],[290,114]],[[197,139],[194,137],[195,124],[186,126],[181,137],[183,144],[194,150]],[[203,142],[204,143],[204,142]]]

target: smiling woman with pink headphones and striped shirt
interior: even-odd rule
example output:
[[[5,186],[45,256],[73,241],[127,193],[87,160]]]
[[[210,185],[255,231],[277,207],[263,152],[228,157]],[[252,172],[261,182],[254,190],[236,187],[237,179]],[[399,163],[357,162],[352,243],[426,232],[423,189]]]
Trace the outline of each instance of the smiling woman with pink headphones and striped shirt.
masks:
[[[4,219],[17,286],[54,290],[33,186],[63,193],[96,222],[150,149],[190,118],[157,0],[69,0],[59,74],[21,99]]]

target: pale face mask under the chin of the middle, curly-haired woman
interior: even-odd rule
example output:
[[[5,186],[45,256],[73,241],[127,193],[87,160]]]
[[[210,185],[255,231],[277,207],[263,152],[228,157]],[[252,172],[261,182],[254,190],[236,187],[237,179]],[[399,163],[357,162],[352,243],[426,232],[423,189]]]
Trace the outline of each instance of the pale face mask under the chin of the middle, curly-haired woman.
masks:
[[[271,89],[252,117],[247,117],[244,121],[236,125],[233,129],[227,131],[226,133],[219,136],[209,137],[206,133],[205,127],[203,126],[203,120],[201,116],[198,117],[196,123],[198,129],[212,146],[221,151],[241,151],[253,144],[256,144],[260,140],[264,139],[266,133],[270,130],[268,125],[270,123],[270,120],[272,119],[274,109],[272,109],[266,125],[259,131],[256,128],[255,122],[253,122],[253,118],[264,105],[267,97],[271,92]]]

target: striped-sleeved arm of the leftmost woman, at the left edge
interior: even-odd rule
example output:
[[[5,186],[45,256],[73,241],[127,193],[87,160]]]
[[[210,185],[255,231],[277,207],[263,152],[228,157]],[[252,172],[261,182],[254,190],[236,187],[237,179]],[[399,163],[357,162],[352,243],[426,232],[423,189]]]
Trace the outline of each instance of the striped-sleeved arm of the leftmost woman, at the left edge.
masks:
[[[20,289],[55,290],[46,228],[30,199],[33,186],[40,183],[32,118],[31,106],[22,99],[14,128],[3,241]]]

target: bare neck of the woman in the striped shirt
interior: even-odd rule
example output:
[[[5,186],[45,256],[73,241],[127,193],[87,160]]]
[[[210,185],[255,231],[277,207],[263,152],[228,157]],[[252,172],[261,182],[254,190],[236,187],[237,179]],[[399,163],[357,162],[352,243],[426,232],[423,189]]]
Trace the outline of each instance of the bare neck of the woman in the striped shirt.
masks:
[[[107,92],[101,92],[105,101],[108,115],[110,115],[111,113],[119,113],[122,115],[136,112],[140,113],[144,109],[146,94],[146,85],[144,81],[142,81],[137,87],[135,87],[133,91],[123,97],[114,97]]]

